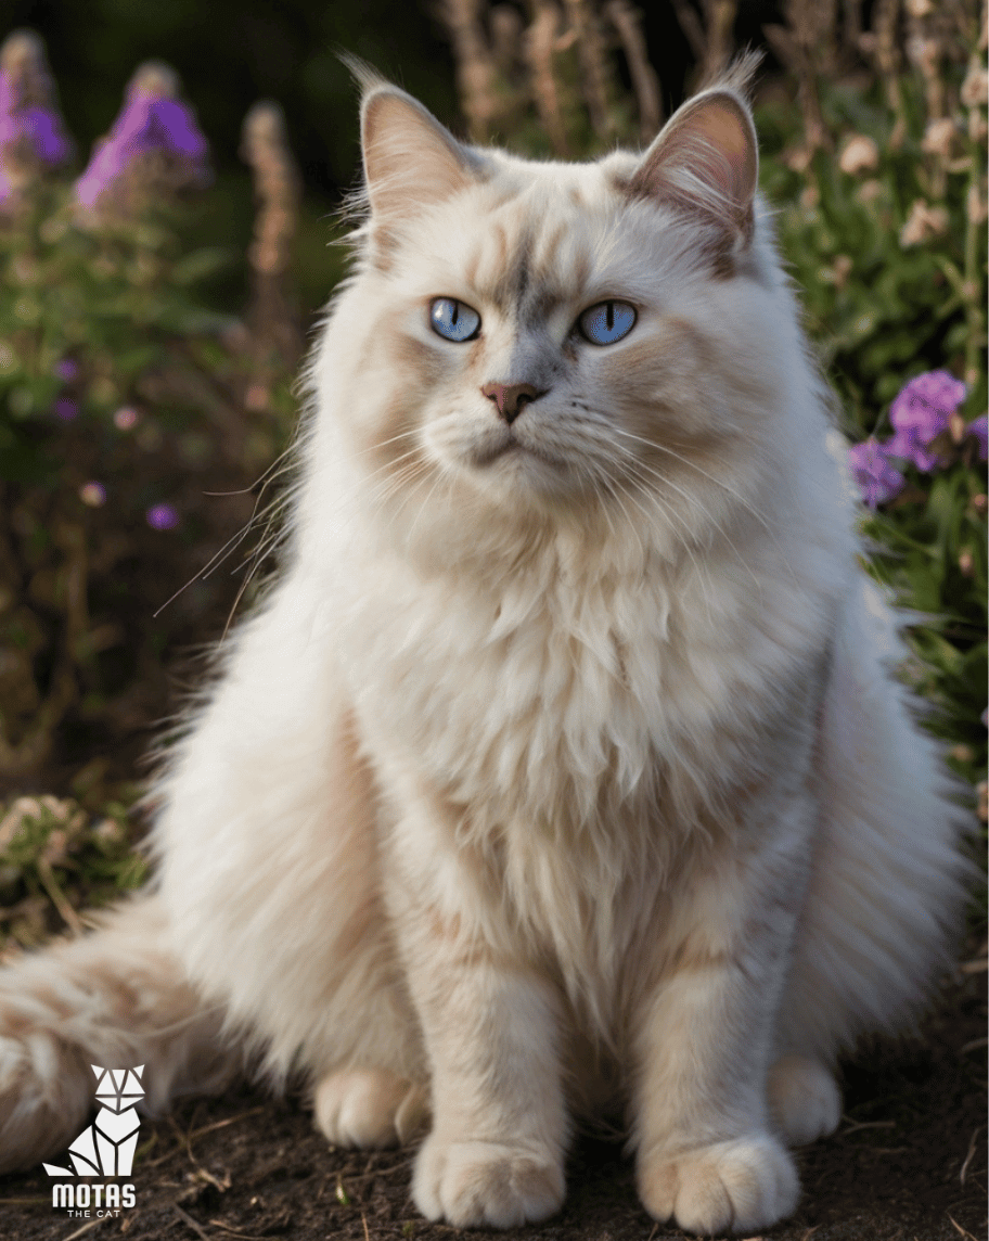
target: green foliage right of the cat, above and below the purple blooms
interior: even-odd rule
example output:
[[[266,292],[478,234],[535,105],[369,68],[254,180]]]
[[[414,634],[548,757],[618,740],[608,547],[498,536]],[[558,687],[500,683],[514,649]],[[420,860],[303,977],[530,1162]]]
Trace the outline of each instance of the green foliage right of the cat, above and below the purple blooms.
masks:
[[[955,92],[963,71],[951,71]],[[944,155],[926,151],[923,92],[910,76],[900,83],[905,125],[877,82],[820,87],[833,149],[808,160],[792,107],[768,105],[758,120],[763,187],[781,208],[781,246],[845,431],[853,441],[888,436],[891,401],[938,369],[965,376],[959,414],[970,422],[987,405],[985,228],[967,211],[982,144],[959,124]],[[855,169],[839,153],[861,137],[875,144],[875,166]],[[910,226],[917,202],[934,212],[921,237]],[[973,438],[943,436],[934,447],[941,464],[931,474],[907,465],[901,495],[864,529],[870,571],[922,614],[907,678],[934,705],[929,726],[951,742],[953,766],[974,783],[987,737],[985,464]]]

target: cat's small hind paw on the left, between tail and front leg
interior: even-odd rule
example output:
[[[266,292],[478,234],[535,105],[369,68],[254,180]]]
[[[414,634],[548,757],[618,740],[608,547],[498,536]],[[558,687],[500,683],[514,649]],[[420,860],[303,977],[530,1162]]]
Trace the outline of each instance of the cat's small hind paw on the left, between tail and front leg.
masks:
[[[429,1116],[426,1091],[387,1069],[329,1073],[316,1083],[313,1109],[330,1142],[365,1150],[408,1142]]]

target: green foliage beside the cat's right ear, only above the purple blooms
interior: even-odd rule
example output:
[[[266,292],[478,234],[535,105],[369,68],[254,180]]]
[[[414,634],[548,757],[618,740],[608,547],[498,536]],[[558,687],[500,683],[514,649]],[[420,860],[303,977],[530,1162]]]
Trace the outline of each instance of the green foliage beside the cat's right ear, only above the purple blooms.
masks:
[[[905,79],[903,93],[918,104],[918,83]],[[897,118],[879,83],[865,91],[821,83],[821,96],[834,145],[817,149],[807,166],[799,114],[783,104],[759,109],[762,182],[782,207],[781,243],[808,329],[850,429],[861,438],[881,426],[882,411],[908,379],[942,366],[960,376],[968,338],[984,339],[983,299],[964,289],[967,279],[982,280],[985,271],[985,230],[978,228],[973,272],[965,272],[965,194],[982,155],[979,144],[959,132],[957,158],[936,194],[939,177],[922,150],[917,107],[908,109],[917,128],[892,149]],[[875,143],[876,166],[843,171],[839,151],[862,135]],[[901,238],[917,202],[942,208],[946,226],[910,243]],[[969,393],[972,417],[985,408],[985,395],[982,366]]]

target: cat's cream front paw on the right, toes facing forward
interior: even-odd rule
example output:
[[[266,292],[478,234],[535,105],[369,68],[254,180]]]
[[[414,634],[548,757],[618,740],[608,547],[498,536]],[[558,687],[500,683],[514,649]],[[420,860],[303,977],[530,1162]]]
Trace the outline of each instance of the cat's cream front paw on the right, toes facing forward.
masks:
[[[706,1235],[768,1227],[790,1214],[800,1193],[785,1148],[764,1133],[675,1155],[640,1154],[638,1184],[656,1220]]]

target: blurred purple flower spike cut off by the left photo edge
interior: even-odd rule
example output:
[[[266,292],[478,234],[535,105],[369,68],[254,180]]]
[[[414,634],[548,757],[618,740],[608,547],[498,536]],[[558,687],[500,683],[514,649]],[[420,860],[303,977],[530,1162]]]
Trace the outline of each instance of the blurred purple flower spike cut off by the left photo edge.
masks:
[[[16,200],[38,169],[63,164],[72,151],[45,45],[16,30],[0,47],[0,204]]]

